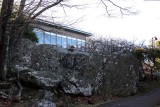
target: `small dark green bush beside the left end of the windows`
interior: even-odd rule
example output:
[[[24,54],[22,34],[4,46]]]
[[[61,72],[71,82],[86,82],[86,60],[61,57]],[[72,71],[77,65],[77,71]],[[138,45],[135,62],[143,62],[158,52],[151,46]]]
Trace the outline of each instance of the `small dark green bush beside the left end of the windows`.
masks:
[[[31,29],[31,28],[26,29],[23,37],[31,40],[32,42],[38,43],[38,38],[37,38],[36,34],[33,32],[33,29]]]

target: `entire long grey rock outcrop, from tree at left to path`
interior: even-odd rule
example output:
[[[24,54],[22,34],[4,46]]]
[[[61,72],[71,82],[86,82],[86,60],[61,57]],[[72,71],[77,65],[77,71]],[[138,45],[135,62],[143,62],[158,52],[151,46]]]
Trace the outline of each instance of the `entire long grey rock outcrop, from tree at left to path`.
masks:
[[[130,53],[114,53],[104,62],[98,54],[36,45],[29,40],[22,40],[18,50],[11,57],[11,71],[19,73],[25,84],[84,96],[102,88],[112,95],[136,93],[140,65]]]

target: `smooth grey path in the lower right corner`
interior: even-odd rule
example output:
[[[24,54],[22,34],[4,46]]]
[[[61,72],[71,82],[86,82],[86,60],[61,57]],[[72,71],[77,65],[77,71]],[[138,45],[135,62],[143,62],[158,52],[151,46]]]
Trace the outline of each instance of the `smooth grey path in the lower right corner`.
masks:
[[[146,94],[127,97],[97,107],[155,107],[160,104],[160,88]]]

